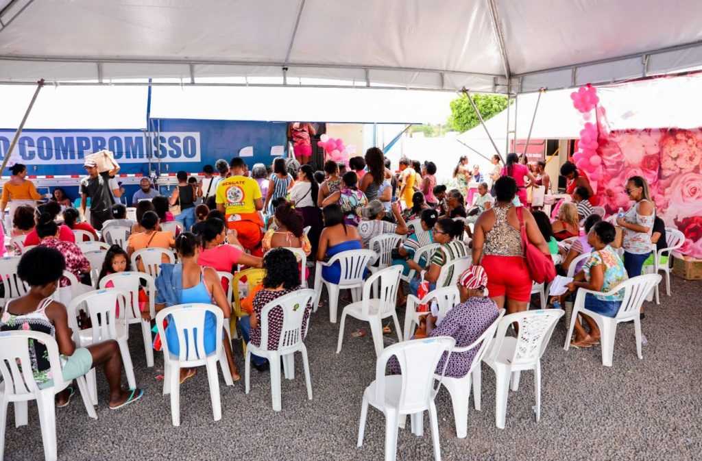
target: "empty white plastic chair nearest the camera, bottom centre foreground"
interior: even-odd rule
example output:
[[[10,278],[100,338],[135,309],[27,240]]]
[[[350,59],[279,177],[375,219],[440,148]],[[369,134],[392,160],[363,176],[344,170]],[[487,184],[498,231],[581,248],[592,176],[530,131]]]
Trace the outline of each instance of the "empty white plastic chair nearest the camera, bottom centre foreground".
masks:
[[[385,461],[395,461],[397,454],[397,427],[406,415],[411,415],[412,432],[417,436],[423,434],[422,421],[424,412],[429,413],[429,422],[434,443],[434,459],[441,461],[439,446],[439,422],[435,396],[442,385],[434,387],[435,370],[442,354],[451,354],[456,340],[447,336],[399,342],[386,347],[376,361],[376,380],[371,382],[363,392],[361,420],[358,428],[357,446],[363,445],[366,430],[368,406],[385,415]],[[385,366],[390,357],[395,356],[402,374],[385,375]],[[449,363],[446,360],[446,363]],[[446,371],[444,370],[441,376]]]

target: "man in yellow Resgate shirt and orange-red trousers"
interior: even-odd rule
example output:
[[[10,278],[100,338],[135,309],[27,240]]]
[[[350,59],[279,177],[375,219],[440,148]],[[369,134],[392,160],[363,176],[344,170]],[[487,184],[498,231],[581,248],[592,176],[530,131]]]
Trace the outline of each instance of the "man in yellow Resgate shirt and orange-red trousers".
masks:
[[[263,237],[263,197],[258,182],[244,175],[246,162],[234,157],[230,163],[232,175],[221,180],[217,186],[217,209],[225,214],[227,228],[237,232],[241,246],[260,256],[260,243]]]

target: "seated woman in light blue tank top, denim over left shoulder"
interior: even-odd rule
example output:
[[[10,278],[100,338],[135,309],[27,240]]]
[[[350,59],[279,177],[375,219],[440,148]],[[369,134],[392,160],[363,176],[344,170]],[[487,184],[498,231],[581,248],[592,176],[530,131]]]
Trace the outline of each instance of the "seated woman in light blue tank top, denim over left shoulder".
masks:
[[[211,267],[201,267],[197,264],[197,258],[201,250],[198,237],[190,232],[183,232],[176,238],[176,250],[178,251],[180,264],[162,264],[161,272],[156,279],[156,310],[178,304],[213,304],[222,309],[225,322],[229,321],[232,307],[227,302],[227,296],[224,293],[216,270]],[[168,352],[177,355],[180,352],[178,333],[171,317],[169,316],[167,319],[166,342],[168,342]],[[211,354],[216,349],[218,335],[215,328],[216,317],[211,312],[208,312],[205,315],[204,324],[206,354]],[[225,331],[223,331],[222,337],[227,362],[229,362],[229,369],[232,373],[232,380],[238,381],[241,379],[239,377],[239,369],[234,363],[232,345]],[[194,369],[183,368],[180,370],[180,382],[194,375]]]

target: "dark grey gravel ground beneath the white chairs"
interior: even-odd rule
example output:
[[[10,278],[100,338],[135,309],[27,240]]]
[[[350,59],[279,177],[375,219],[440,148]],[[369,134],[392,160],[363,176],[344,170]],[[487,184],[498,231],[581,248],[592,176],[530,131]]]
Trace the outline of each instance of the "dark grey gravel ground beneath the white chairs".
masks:
[[[647,303],[643,332],[648,344],[638,360],[633,324],[618,328],[614,366],[605,368],[600,348],[562,349],[559,326],[543,357],[541,421],[536,423],[531,373],[523,373],[518,392],[510,392],[504,430],[495,426],[494,375],[483,367],[482,411],[471,410],[468,438],[457,439],[449,394],[437,396],[444,460],[692,460],[702,453],[701,282],[673,278],[673,298]],[[340,309],[339,309],[340,312]],[[404,312],[400,312],[400,320]],[[335,354],[338,324],[321,307],[307,338],[314,399],[307,401],[300,355],[296,379],[283,380],[281,413],[274,413],[270,376],[252,370],[251,393],[243,379],[226,387],[220,378],[223,418],[212,419],[206,373],[180,390],[180,427],[171,425],[168,396],[161,395],[162,356],[146,368],[137,328],[131,355],[142,401],[111,411],[107,385],[98,372],[98,420],[87,417],[79,399],[57,409],[59,460],[379,460],[383,459],[384,420],[369,409],[366,438],[356,448],[363,389],[373,380],[375,354],[369,335],[351,338],[362,326],[347,321],[344,347]],[[386,340],[395,338],[387,335]],[[241,349],[235,349],[244,374]],[[123,380],[126,383],[126,379]],[[44,459],[39,418],[29,406],[29,425],[15,429],[8,410],[5,460]],[[432,459],[425,435],[400,429],[398,460]]]

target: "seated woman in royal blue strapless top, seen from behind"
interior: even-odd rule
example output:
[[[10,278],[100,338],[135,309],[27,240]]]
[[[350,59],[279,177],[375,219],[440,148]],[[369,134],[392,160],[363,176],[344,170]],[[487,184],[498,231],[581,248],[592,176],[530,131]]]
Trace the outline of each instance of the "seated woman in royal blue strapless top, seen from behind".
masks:
[[[355,174],[355,173],[354,173]],[[347,226],[344,213],[336,203],[327,205],[322,210],[324,229],[319,236],[317,260],[328,261],[336,253],[347,250],[360,250],[363,248],[361,236],[355,226]],[[322,267],[322,278],[331,283],[339,283],[341,265],[335,262],[329,267]]]

